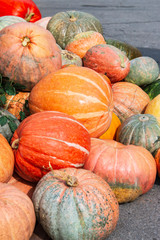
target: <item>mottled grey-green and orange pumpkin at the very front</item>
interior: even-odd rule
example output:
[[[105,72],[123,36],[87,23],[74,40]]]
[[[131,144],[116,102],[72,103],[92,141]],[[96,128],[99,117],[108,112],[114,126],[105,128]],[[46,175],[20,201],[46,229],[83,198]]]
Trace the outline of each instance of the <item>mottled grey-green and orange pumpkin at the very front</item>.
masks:
[[[119,206],[109,185],[85,169],[47,173],[32,196],[38,221],[52,239],[106,239]]]

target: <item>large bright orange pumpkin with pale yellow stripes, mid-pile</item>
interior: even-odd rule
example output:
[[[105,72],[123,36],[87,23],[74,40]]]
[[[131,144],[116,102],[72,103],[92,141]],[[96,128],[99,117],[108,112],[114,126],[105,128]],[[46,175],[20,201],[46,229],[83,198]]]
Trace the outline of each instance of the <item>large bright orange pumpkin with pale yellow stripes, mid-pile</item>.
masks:
[[[46,76],[32,89],[28,103],[31,113],[52,110],[72,115],[93,137],[102,135],[112,118],[111,87],[85,67],[69,66]]]

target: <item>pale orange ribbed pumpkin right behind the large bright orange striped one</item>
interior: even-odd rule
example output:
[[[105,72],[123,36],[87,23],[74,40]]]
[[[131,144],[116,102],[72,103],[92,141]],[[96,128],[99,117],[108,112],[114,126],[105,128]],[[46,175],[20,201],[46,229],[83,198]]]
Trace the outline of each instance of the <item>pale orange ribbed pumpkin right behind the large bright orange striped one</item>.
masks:
[[[114,113],[121,122],[128,117],[144,113],[150,98],[138,85],[129,82],[117,82],[112,85]]]

